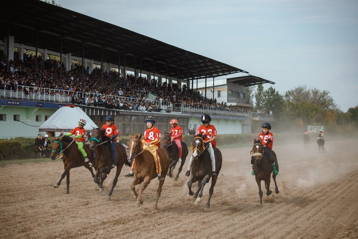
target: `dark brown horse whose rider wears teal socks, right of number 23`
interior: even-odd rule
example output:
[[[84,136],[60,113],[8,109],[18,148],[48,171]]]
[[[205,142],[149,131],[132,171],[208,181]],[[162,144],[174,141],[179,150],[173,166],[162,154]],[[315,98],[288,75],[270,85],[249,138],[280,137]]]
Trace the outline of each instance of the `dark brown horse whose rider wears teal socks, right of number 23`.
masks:
[[[277,163],[277,157],[274,150],[271,150],[272,156],[274,156],[276,163],[276,170],[279,172],[279,164]],[[276,183],[276,175],[272,172],[272,166],[269,162],[269,158],[263,153],[263,147],[260,140],[253,140],[253,148],[251,150],[253,153],[254,162],[253,162],[253,172],[255,172],[255,179],[258,186],[258,195],[260,196],[260,204],[262,205],[262,190],[261,190],[261,180],[265,181],[265,188],[267,190],[266,195],[271,195],[272,191],[270,190],[270,176],[272,173],[272,178],[275,182],[275,192],[279,193],[279,188]]]

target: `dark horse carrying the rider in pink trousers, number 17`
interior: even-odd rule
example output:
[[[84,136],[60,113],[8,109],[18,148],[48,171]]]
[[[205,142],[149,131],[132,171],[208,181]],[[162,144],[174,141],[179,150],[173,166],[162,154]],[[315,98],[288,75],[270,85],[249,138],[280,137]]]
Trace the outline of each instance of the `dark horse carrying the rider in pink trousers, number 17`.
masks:
[[[174,171],[176,163],[178,163],[178,146],[175,143],[173,144],[173,141],[171,141],[171,132],[170,132],[170,134],[165,132],[162,145],[163,145],[163,148],[165,148],[166,151],[168,151],[170,160],[173,161],[169,165],[169,170],[168,170],[168,176],[173,177],[172,171]],[[187,144],[182,142],[182,163],[180,164],[180,167],[178,169],[178,174],[176,175],[174,181],[178,181],[179,173],[182,172],[183,165],[185,163],[185,159],[188,156],[188,153],[189,152],[188,152]]]

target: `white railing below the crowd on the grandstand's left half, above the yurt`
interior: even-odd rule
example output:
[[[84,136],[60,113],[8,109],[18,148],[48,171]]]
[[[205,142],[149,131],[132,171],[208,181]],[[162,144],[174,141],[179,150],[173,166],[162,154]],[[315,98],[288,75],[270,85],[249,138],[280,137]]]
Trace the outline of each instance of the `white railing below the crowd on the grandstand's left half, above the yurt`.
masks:
[[[58,90],[58,89],[49,89],[49,88],[42,88],[36,86],[17,86],[15,89],[10,87],[10,89],[4,88],[0,89],[0,96],[6,97],[10,99],[23,99],[23,100],[36,100],[36,101],[49,101],[49,102],[60,102],[60,103],[71,103],[72,96],[77,96],[82,92],[71,91],[71,90]],[[93,92],[84,92],[84,97],[91,97],[96,99],[98,96],[102,97],[102,99],[106,98],[113,98],[119,101],[141,101],[138,98],[131,98],[131,97],[124,97],[118,95],[103,95],[97,94]],[[160,102],[159,100],[149,100],[146,99],[145,102],[152,102],[158,106],[169,106],[172,107],[171,102]]]

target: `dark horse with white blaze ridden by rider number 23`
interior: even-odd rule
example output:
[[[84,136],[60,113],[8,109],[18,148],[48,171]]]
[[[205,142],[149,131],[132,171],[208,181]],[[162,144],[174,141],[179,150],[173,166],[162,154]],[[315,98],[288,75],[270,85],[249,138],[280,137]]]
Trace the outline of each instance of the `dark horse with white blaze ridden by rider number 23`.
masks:
[[[195,200],[195,205],[199,205],[201,201],[201,197],[203,196],[203,189],[206,183],[209,182],[210,177],[212,177],[211,187],[209,190],[209,199],[206,204],[206,208],[204,209],[205,212],[209,211],[210,207],[210,199],[214,192],[214,186],[216,184],[216,180],[218,176],[212,176],[212,167],[211,167],[211,159],[208,150],[205,150],[206,143],[204,143],[204,139],[206,135],[198,134],[197,137],[194,137],[192,142],[192,146],[190,147],[193,151],[193,166],[192,166],[192,173],[190,179],[188,181],[189,187],[189,195],[193,196]],[[216,174],[219,175],[221,165],[222,165],[222,155],[218,148],[214,149],[215,154],[215,167],[216,167]],[[193,182],[198,181],[198,190],[195,194],[192,191],[192,184]],[[200,192],[199,192],[200,191]],[[198,197],[199,193],[199,197]]]

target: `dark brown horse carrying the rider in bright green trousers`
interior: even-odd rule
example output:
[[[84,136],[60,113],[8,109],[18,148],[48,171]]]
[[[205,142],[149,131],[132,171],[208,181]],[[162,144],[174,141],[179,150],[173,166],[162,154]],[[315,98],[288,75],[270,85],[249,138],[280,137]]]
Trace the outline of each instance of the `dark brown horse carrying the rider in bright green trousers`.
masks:
[[[84,151],[87,153],[87,158],[89,162],[93,159],[92,151],[89,149],[89,145],[85,144],[83,146]],[[61,175],[60,181],[53,185],[53,187],[58,188],[60,186],[61,181],[66,176],[67,177],[67,191],[66,193],[69,194],[69,171],[71,168],[76,168],[80,166],[86,167],[89,172],[92,173],[92,177],[94,178],[95,175],[93,174],[93,169],[89,167],[88,162],[84,162],[84,158],[81,152],[78,151],[77,144],[72,141],[72,138],[68,136],[64,136],[62,138],[57,139],[52,144],[52,152],[51,152],[51,159],[55,160],[56,156],[60,153],[63,154],[62,161],[64,164],[65,171]]]

